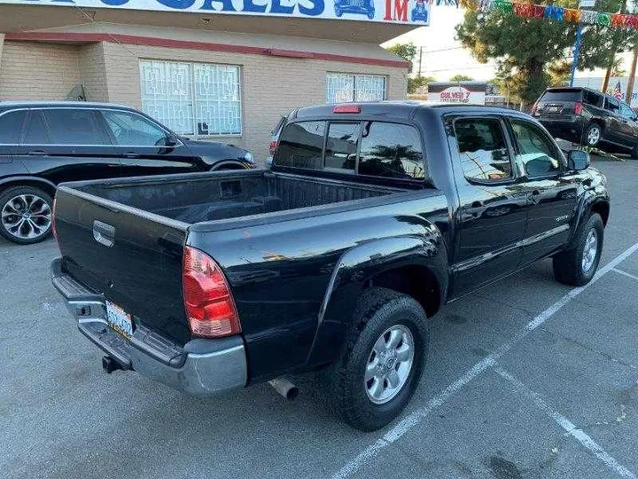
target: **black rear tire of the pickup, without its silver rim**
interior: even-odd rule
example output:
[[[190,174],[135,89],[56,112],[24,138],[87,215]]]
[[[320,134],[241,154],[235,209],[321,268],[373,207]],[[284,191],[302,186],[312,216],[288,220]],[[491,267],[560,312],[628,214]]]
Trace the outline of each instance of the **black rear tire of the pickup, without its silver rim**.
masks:
[[[407,379],[395,395],[384,404],[375,404],[367,392],[365,370],[375,343],[393,326],[408,328],[414,356]],[[365,291],[357,302],[345,350],[329,371],[331,400],[343,420],[362,431],[374,431],[396,418],[421,379],[428,341],[427,317],[415,299],[380,287]]]

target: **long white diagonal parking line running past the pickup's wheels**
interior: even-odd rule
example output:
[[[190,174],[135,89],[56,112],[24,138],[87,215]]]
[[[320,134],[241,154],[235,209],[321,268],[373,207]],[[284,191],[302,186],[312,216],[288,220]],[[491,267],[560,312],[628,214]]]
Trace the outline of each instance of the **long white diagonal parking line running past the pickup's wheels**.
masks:
[[[409,414],[408,417],[399,421],[399,423],[386,432],[382,438],[378,439],[374,444],[370,444],[370,446],[366,447],[353,459],[350,459],[344,467],[341,467],[334,475],[332,475],[332,479],[345,479],[346,477],[353,475],[368,459],[376,456],[378,452],[401,438],[401,436],[414,428],[421,420],[424,420],[424,418],[432,411],[440,407],[442,404],[445,404],[450,397],[455,396],[459,390],[463,389],[463,386],[473,381],[480,373],[483,373],[486,369],[496,365],[496,361],[512,349],[517,342],[523,340],[525,336],[532,333],[533,330],[541,326],[545,321],[556,314],[557,310],[563,308],[565,304],[572,301],[573,298],[585,291],[587,287],[594,285],[598,279],[603,278],[605,274],[615,269],[616,266],[625,261],[626,258],[633,255],[636,251],[638,251],[638,243],[626,248],[625,251],[612,259],[611,262],[605,264],[603,268],[596,272],[595,277],[589,281],[587,285],[574,287],[569,293],[565,294],[561,299],[549,306],[547,310],[542,311],[534,317],[523,327],[523,329],[518,331],[517,334],[514,334],[509,341],[503,343],[499,349],[496,349],[493,353],[478,361],[478,363],[473,365],[467,373],[464,373],[463,376],[447,386],[446,389],[443,389],[443,391],[441,391],[438,395],[432,397],[432,399],[430,399],[424,406],[417,408],[415,412]]]

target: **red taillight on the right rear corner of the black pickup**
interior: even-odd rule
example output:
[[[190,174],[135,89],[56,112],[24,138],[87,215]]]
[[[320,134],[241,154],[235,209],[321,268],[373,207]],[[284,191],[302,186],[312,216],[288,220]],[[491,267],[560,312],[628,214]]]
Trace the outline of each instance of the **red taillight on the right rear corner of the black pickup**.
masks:
[[[184,307],[194,336],[219,338],[241,333],[235,300],[213,258],[184,247],[182,275]]]

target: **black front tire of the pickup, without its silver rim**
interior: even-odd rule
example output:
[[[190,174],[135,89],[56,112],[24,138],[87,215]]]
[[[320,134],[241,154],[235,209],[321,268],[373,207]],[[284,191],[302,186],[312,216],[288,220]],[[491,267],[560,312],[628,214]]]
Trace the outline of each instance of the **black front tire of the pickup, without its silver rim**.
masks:
[[[585,271],[583,255],[585,255],[585,247],[590,232],[594,232],[596,235],[596,250],[593,263]],[[576,232],[572,247],[554,256],[553,266],[556,281],[571,286],[587,285],[594,278],[595,271],[598,269],[601,252],[603,251],[603,240],[603,219],[597,213],[593,213],[589,216],[587,222],[580,226],[579,231]]]

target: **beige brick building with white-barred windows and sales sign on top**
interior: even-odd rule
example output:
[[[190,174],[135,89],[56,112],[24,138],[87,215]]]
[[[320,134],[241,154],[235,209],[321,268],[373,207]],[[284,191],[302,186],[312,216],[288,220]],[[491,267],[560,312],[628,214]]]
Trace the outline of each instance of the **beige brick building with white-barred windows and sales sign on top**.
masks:
[[[0,101],[133,106],[263,161],[294,108],[405,98],[407,63],[379,43],[428,17],[423,0],[0,0]]]

